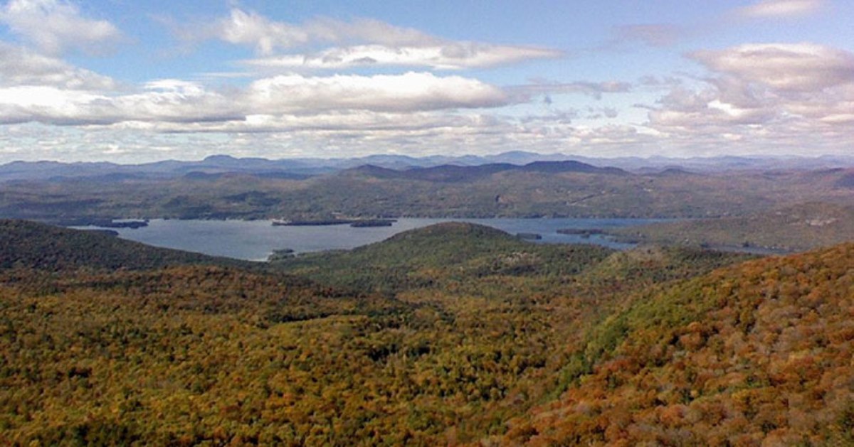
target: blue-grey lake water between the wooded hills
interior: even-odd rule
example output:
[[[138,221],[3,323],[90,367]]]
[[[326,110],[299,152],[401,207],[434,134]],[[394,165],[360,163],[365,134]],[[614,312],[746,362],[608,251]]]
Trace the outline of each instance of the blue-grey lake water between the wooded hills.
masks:
[[[593,243],[625,249],[601,235],[561,235],[558,229],[612,229],[660,222],[659,219],[577,218],[400,218],[390,227],[352,228],[349,225],[272,226],[269,220],[163,220],[154,219],[140,229],[116,229],[121,238],[157,247],[177,248],[249,260],[265,260],[273,250],[296,253],[349,249],[383,241],[392,235],[440,222],[471,222],[502,229],[512,235],[536,233],[541,243]],[[87,227],[91,228],[91,227]]]

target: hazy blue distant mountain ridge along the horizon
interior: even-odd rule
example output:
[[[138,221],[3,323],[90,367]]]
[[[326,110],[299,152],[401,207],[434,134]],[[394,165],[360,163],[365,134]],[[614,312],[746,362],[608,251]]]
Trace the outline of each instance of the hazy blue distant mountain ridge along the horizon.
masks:
[[[123,165],[105,161],[63,163],[58,161],[13,161],[0,165],[0,182],[15,180],[61,180],[86,177],[101,181],[120,181],[123,176],[134,178],[172,178],[183,176],[219,176],[225,173],[244,173],[259,177],[301,179],[330,172],[374,165],[391,170],[431,168],[441,165],[532,165],[536,163],[580,163],[596,167],[611,166],[624,171],[659,172],[668,169],[682,171],[726,170],[816,170],[854,167],[854,157],[737,157],[667,158],[619,157],[591,158],[570,154],[536,154],[523,151],[494,155],[462,155],[412,157],[407,155],[368,155],[354,158],[294,158],[268,160],[265,158],[237,158],[231,155],[211,155],[203,160],[162,160],[151,163]]]

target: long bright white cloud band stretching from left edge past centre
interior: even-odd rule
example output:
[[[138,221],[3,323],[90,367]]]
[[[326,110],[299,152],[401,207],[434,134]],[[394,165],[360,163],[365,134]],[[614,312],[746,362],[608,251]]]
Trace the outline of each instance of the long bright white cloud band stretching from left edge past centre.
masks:
[[[0,121],[57,125],[121,122],[212,123],[259,115],[313,115],[330,111],[421,112],[495,107],[503,90],[476,79],[432,73],[301,75],[263,78],[243,90],[207,90],[202,84],[161,79],[130,94],[110,95],[48,85],[0,88]]]

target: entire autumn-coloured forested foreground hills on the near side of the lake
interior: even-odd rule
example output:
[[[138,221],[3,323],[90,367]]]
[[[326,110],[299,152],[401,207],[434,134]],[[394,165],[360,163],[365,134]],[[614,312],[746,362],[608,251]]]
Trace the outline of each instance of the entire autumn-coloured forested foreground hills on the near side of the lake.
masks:
[[[3,444],[854,440],[851,244],[744,262],[438,224],[247,270],[3,224]]]

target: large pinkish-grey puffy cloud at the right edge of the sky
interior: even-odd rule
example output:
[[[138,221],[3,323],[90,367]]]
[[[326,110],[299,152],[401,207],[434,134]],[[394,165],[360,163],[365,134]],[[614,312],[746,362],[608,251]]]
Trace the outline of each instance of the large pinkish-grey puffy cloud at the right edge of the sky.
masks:
[[[793,119],[845,121],[854,105],[854,55],[816,44],[746,44],[689,55],[712,75],[705,87],[677,86],[652,123],[698,129],[769,126]]]

